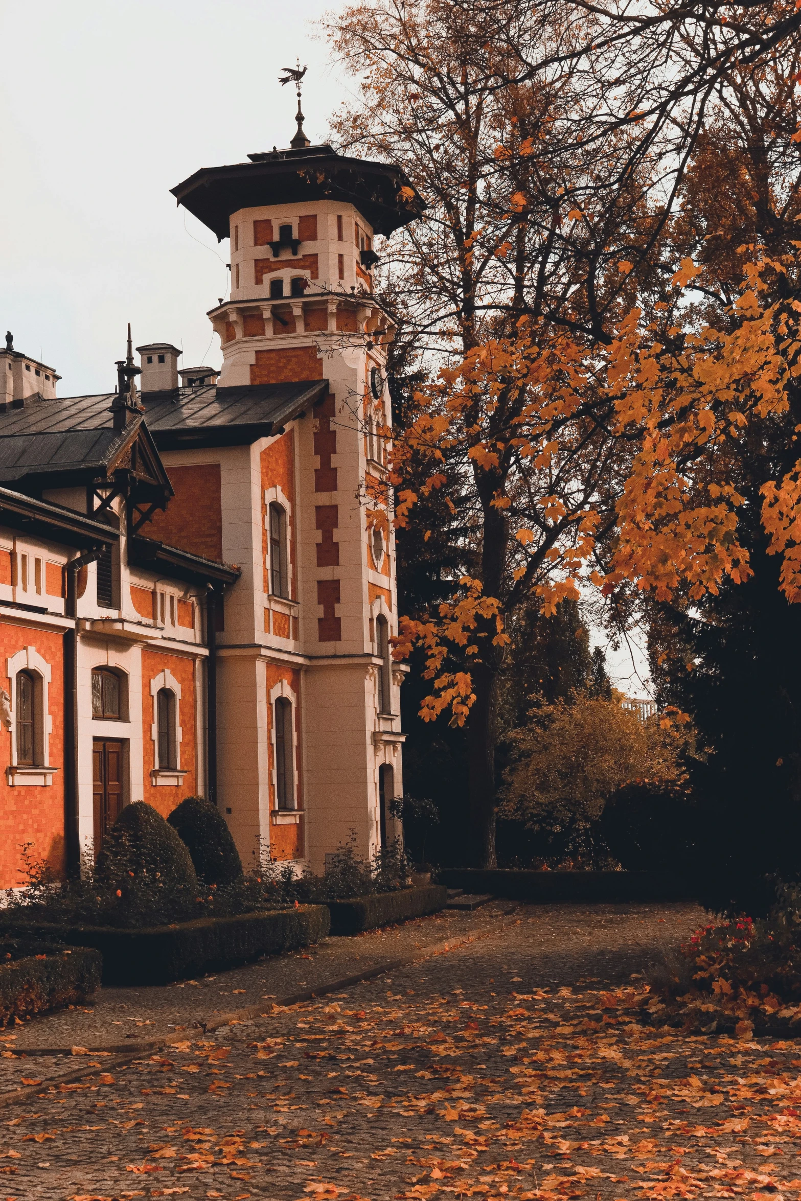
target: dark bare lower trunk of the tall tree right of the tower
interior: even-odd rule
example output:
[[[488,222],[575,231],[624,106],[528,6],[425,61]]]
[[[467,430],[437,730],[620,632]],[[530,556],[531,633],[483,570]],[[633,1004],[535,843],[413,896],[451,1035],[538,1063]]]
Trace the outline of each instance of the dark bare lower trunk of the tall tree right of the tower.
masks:
[[[476,700],[470,711],[467,867],[495,867],[495,737],[497,671],[482,663],[473,669]]]

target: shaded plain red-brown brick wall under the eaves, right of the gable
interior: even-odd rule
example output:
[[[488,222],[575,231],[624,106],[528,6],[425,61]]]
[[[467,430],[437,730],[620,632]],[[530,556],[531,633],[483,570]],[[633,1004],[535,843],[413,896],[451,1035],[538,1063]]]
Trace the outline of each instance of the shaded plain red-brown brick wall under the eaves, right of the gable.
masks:
[[[166,513],[156,513],[142,531],[169,546],[222,562],[222,486],[220,464],[167,467],[175,495]]]

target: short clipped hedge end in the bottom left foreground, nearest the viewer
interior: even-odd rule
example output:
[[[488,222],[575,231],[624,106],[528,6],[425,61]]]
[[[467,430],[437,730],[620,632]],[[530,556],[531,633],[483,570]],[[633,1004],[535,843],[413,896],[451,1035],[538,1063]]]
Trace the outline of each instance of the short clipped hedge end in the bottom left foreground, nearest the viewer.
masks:
[[[5,938],[0,940],[0,1027],[14,1017],[80,1005],[100,988],[95,950]]]

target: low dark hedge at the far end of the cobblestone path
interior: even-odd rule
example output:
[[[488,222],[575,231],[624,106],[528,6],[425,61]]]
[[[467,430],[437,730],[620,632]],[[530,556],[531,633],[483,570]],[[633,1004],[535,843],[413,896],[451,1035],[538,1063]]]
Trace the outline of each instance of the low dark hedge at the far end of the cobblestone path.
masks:
[[[554,904],[562,901],[688,901],[692,890],[669,872],[537,872],[513,868],[447,868],[449,889]]]

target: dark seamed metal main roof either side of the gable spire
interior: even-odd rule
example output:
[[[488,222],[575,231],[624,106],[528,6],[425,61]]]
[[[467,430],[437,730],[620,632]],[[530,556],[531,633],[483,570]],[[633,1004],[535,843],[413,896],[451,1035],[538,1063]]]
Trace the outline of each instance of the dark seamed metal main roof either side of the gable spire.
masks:
[[[329,390],[327,380],[241,388],[177,388],[139,394],[160,450],[180,446],[241,446],[269,437]],[[113,393],[25,401],[0,413],[0,479],[31,474],[37,464],[62,470],[108,461],[125,431],[113,429]]]

